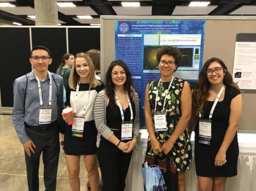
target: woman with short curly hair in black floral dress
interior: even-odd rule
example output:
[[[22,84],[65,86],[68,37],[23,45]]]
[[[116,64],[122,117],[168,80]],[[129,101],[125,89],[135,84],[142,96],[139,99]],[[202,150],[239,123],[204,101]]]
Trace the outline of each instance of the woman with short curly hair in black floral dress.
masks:
[[[186,128],[191,116],[191,91],[187,81],[173,77],[181,62],[179,49],[163,47],[156,56],[161,78],[151,81],[145,93],[149,134],[146,156],[158,154],[160,160],[174,163],[179,191],[185,191],[185,171],[191,168],[192,155]]]

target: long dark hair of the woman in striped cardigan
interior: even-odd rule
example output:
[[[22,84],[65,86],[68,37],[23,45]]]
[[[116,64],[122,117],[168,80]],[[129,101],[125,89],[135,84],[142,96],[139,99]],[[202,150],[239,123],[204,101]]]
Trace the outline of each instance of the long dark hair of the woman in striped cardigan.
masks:
[[[131,78],[131,72],[129,71],[128,66],[122,61],[122,60],[114,60],[110,63],[108,67],[108,71],[106,73],[106,95],[109,98],[109,104],[110,107],[114,107],[115,101],[114,101],[114,83],[112,81],[111,73],[114,68],[114,66],[121,66],[125,70],[125,75],[126,75],[126,81],[125,81],[125,90],[128,92],[130,100],[133,100],[132,96],[132,78]]]

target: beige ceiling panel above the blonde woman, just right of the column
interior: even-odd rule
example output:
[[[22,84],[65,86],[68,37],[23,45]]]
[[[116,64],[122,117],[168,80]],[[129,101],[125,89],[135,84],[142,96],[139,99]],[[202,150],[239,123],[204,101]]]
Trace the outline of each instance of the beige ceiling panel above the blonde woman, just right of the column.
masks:
[[[58,11],[66,15],[98,15],[90,6],[58,7]]]

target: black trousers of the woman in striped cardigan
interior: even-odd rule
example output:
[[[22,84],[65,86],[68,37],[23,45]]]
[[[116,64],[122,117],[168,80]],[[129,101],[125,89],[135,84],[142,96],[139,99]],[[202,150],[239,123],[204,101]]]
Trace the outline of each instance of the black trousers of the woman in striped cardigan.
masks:
[[[124,153],[101,136],[97,155],[104,181],[102,191],[123,191],[132,152]]]

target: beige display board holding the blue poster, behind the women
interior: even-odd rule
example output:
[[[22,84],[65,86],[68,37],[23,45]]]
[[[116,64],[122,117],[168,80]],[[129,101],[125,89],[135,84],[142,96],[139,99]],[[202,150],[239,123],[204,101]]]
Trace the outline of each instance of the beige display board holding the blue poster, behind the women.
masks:
[[[144,92],[147,83],[160,77],[156,61],[157,50],[170,45],[179,47],[182,53],[181,65],[174,76],[191,84],[198,80],[203,63],[211,57],[222,59],[229,72],[233,73],[234,65],[239,66],[239,69],[246,68],[245,65],[234,64],[237,34],[245,36],[250,33],[252,37],[256,33],[256,16],[101,16],[100,25],[101,77],[104,79],[111,61],[122,59],[127,63],[141,100],[141,126],[146,128]],[[241,41],[240,38],[240,44]],[[247,47],[250,47],[246,49],[247,53],[252,55],[252,51],[255,55],[256,46],[252,43],[252,46]],[[240,50],[239,53],[243,51]],[[246,56],[240,55],[238,60],[245,58]],[[255,56],[250,57],[248,66],[254,71],[250,74],[250,79],[255,81]],[[246,72],[244,74],[248,75]],[[236,72],[236,77],[237,75]],[[256,90],[256,85],[252,85],[250,89]],[[238,126],[240,132],[256,132],[254,92],[242,91],[243,112]]]

